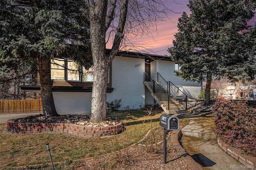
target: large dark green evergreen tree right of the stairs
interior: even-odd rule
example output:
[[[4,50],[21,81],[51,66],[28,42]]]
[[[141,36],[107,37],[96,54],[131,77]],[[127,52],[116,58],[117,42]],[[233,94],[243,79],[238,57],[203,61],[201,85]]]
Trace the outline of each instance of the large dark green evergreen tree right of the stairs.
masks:
[[[255,31],[247,25],[255,0],[190,0],[190,16],[179,18],[174,47],[168,49],[185,81],[206,81],[205,104],[210,104],[212,77],[232,82],[254,79]]]

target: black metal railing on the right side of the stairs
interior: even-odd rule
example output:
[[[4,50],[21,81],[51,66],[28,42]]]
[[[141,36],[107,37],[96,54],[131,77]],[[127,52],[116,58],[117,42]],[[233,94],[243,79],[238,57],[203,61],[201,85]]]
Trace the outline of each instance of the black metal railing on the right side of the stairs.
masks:
[[[170,93],[177,101],[180,102],[186,110],[188,108],[188,96],[183,93],[178,87],[176,87],[172,82],[166,81],[159,73],[157,73],[157,82],[160,83],[167,93]]]

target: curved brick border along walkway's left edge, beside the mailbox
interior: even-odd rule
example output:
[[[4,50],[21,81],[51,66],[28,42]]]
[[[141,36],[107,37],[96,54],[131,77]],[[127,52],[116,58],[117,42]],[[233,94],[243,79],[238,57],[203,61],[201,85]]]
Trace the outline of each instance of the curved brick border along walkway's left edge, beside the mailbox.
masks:
[[[201,166],[196,163],[196,161],[186,152],[186,150],[180,145],[179,137],[181,134],[181,130],[173,130],[171,131],[170,140],[172,142],[172,146],[176,148],[180,157],[188,164],[191,170],[203,170]]]

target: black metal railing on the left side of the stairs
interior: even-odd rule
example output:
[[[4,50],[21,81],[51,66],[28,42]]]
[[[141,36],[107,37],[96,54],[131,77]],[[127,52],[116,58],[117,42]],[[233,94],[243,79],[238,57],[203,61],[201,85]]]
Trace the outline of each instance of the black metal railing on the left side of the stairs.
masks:
[[[152,92],[157,96],[163,104],[168,105],[168,110],[170,110],[170,95],[166,93],[162,87],[154,81],[147,72],[144,72],[144,82],[148,82],[148,85],[152,88]],[[168,98],[168,101],[166,99]]]

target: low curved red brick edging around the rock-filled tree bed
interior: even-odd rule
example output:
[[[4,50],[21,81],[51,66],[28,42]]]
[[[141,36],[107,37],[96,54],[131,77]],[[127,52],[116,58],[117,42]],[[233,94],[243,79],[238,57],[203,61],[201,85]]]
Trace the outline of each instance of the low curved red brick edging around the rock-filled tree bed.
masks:
[[[5,132],[16,134],[32,134],[44,131],[56,131],[74,134],[76,136],[111,136],[122,132],[122,123],[108,127],[86,127],[72,123],[13,123],[7,121]]]

